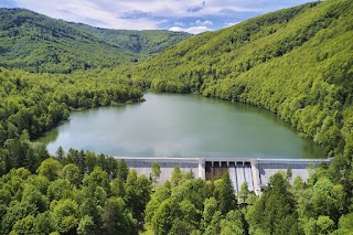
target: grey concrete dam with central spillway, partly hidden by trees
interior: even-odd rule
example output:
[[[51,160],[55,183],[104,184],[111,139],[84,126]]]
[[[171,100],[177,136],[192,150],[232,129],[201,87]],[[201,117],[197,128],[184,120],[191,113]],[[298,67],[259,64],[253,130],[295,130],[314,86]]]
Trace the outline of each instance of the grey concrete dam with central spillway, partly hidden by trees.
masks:
[[[296,177],[307,181],[314,167],[332,159],[247,159],[247,158],[137,158],[115,157],[117,161],[124,159],[130,169],[138,174],[147,177],[151,173],[153,162],[161,167],[161,175],[158,184],[170,180],[174,167],[182,171],[192,171],[195,178],[213,180],[228,172],[234,192],[237,194],[244,182],[248,183],[249,191],[260,195],[271,175],[278,171],[291,170],[290,183]]]

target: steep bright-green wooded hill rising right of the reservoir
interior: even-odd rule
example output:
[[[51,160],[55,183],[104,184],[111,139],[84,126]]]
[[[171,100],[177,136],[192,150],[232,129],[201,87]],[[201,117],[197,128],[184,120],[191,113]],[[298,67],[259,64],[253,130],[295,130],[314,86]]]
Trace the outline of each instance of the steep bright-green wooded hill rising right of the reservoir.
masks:
[[[308,3],[194,36],[129,76],[159,92],[200,93],[269,109],[329,156],[351,156],[352,38],[352,1]]]

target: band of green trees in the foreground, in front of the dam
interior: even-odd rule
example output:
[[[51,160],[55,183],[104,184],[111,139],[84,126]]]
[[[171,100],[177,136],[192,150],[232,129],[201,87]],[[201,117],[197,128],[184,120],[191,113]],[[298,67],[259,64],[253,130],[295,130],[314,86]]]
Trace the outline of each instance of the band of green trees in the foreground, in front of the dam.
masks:
[[[29,140],[22,137],[20,142]],[[338,174],[338,161],[321,164],[307,182],[297,177],[292,185],[290,170],[278,172],[259,197],[246,183],[235,195],[228,173],[204,181],[179,167],[170,181],[156,188],[152,183],[160,175],[160,170],[153,171],[159,168],[156,164],[153,174],[137,175],[124,160],[74,149],[65,153],[58,148],[36,170],[12,168],[0,179],[0,234],[353,232],[353,203],[347,193],[353,173]]]

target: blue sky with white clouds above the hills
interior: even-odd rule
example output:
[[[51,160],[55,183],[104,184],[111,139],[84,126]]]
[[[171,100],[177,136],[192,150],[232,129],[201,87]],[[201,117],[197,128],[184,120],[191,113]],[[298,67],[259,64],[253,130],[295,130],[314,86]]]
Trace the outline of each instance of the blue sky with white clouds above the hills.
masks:
[[[119,30],[216,31],[313,0],[0,0],[54,19]]]

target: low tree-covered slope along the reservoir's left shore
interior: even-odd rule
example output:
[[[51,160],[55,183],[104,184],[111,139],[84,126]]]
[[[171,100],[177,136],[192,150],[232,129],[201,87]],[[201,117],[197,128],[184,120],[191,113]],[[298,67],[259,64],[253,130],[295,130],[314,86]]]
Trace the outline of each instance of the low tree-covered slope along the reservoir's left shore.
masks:
[[[30,140],[67,119],[69,111],[141,98],[127,78],[117,79],[105,70],[53,75],[1,68],[0,174],[19,167],[36,169],[49,154]]]

